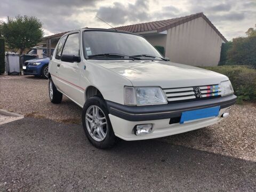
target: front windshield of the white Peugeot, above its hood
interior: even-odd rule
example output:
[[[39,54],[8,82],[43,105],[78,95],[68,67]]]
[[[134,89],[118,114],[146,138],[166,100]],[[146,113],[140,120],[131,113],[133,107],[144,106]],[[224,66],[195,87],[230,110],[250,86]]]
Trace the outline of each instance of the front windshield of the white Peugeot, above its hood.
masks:
[[[113,58],[111,54],[119,54],[119,58],[143,55],[143,59],[150,60],[159,60],[157,57],[163,57],[145,38],[138,35],[111,31],[84,31],[83,41],[85,56],[89,59],[98,59],[99,56]],[[154,55],[156,58],[145,57],[145,55]],[[118,55],[115,55],[114,58],[117,57]]]

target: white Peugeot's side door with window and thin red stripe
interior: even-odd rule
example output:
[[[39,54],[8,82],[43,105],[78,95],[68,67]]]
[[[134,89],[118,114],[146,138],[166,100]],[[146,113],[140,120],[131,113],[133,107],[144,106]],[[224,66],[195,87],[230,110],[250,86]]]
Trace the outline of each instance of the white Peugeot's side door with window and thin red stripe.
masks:
[[[61,55],[75,55],[80,57],[79,33],[69,34],[64,44]],[[60,77],[60,90],[76,103],[81,103],[84,90],[80,84],[80,63],[61,61],[57,71]]]

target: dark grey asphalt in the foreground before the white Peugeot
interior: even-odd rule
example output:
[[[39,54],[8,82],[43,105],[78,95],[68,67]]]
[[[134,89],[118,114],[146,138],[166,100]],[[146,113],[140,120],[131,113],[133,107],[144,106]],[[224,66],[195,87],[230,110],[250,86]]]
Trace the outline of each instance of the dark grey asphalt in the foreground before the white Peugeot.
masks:
[[[90,145],[81,125],[0,125],[0,191],[255,191],[256,163],[158,140]]]

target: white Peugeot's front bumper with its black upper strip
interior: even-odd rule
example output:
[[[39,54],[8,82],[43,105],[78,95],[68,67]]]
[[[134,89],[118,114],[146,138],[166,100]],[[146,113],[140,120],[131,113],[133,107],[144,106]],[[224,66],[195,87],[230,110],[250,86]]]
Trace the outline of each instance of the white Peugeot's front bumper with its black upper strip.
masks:
[[[166,137],[173,134],[196,130],[220,122],[230,106],[236,102],[235,95],[222,98],[172,103],[161,106],[130,107],[107,101],[109,118],[117,137],[124,140],[142,140]],[[216,117],[197,119],[179,123],[183,111],[220,106]],[[174,119],[175,121],[172,121]],[[177,121],[178,119],[178,121]],[[134,127],[139,124],[153,124],[153,131],[144,135],[135,135]]]

